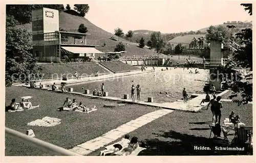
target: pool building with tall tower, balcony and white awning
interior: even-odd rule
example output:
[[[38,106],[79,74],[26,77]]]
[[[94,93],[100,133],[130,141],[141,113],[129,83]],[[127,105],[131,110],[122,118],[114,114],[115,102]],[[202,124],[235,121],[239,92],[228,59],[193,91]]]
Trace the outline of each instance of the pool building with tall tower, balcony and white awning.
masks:
[[[33,55],[39,62],[60,62],[69,59],[91,60],[98,40],[88,40],[90,34],[59,31],[59,11],[41,8],[32,11]]]

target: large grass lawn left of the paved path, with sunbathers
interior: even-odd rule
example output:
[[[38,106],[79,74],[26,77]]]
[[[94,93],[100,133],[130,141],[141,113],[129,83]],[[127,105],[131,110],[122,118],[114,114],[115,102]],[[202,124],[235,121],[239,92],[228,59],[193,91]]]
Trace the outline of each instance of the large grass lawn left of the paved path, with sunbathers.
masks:
[[[6,88],[6,105],[9,105],[12,98],[16,98],[17,102],[19,102],[22,96],[33,96],[30,101],[33,105],[40,104],[40,107],[29,111],[6,112],[6,127],[23,133],[26,133],[27,129],[33,129],[35,138],[66,149],[97,138],[105,132],[158,109],[137,104],[109,108],[103,107],[103,105],[116,102],[15,86]],[[57,109],[61,107],[67,97],[76,98],[77,102],[82,101],[83,104],[90,108],[96,105],[98,110],[89,114],[67,111],[58,112]],[[61,123],[53,127],[27,125],[31,121],[42,119],[46,116],[59,118]],[[8,136],[6,136],[5,145],[5,155],[7,156],[49,155],[49,153]]]

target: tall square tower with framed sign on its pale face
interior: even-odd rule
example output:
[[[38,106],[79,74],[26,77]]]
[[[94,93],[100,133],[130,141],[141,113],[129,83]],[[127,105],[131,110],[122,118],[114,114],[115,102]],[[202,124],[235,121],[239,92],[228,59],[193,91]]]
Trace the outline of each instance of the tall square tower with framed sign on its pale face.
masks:
[[[32,11],[33,55],[38,58],[50,56],[45,49],[45,34],[59,31],[59,11],[41,8]],[[50,46],[48,44],[48,46]],[[53,44],[52,49],[55,49]],[[48,51],[48,50],[47,50]]]

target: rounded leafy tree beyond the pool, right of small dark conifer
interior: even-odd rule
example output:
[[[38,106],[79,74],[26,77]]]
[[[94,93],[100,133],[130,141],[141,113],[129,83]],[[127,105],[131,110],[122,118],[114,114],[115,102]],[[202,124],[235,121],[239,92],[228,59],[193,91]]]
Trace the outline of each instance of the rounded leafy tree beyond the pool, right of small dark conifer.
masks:
[[[150,40],[152,42],[152,47],[155,48],[157,52],[165,46],[165,41],[160,32],[153,32]]]

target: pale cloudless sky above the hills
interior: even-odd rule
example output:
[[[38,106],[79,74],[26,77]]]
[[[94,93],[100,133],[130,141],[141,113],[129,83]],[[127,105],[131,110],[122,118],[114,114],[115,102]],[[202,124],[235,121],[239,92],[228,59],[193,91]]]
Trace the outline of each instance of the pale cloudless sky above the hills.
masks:
[[[105,31],[121,28],[151,30],[161,33],[197,31],[226,21],[251,21],[252,16],[240,6],[241,1],[86,1],[86,18]],[[248,2],[248,1],[247,1]],[[81,3],[76,3],[81,4]],[[65,7],[67,4],[63,4]],[[74,4],[70,4],[73,9]]]

